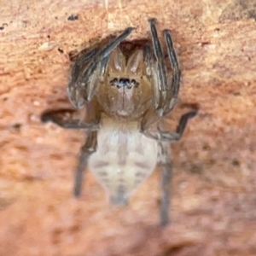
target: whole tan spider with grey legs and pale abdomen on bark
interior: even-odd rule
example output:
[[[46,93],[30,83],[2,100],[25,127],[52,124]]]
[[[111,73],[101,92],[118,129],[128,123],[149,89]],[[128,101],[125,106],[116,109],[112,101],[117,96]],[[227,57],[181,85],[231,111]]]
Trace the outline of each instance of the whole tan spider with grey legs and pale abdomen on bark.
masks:
[[[74,118],[76,110],[61,109],[43,113],[42,120],[86,131],[75,172],[73,194],[77,197],[88,166],[108,191],[110,203],[125,206],[159,163],[160,224],[165,226],[172,179],[170,143],[182,137],[197,110],[183,114],[176,131],[161,128],[177,103],[181,71],[171,33],[163,32],[170,61],[166,64],[156,20],[148,22],[151,43],[129,48],[131,44],[124,40],[133,28],[128,27],[102,48],[91,49],[75,61],[67,94],[75,108],[86,108],[84,119]]]

